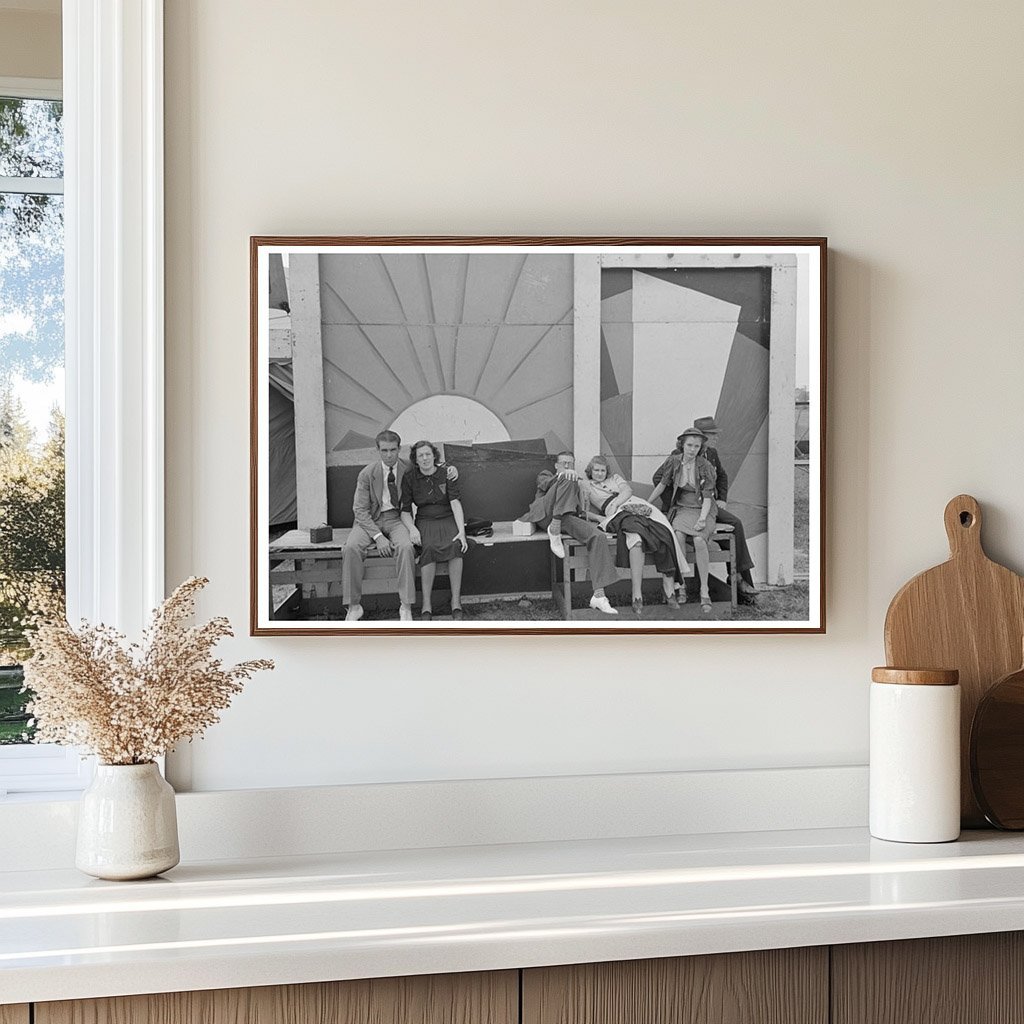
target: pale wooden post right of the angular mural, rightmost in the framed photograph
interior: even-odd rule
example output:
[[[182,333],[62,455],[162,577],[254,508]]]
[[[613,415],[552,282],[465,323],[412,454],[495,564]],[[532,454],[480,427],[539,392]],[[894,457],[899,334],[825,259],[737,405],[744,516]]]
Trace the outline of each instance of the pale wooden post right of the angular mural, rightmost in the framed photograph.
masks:
[[[791,584],[794,453],[797,443],[797,265],[771,271],[771,348],[768,362],[769,584]]]

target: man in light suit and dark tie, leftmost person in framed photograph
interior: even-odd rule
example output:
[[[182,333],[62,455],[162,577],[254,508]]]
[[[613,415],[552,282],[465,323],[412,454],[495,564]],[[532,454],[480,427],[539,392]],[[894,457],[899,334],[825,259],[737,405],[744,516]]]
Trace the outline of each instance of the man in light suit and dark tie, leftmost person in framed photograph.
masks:
[[[364,466],[355,481],[352,514],[355,522],[345,542],[345,561],[341,566],[342,600],[348,605],[346,622],[362,617],[362,574],[367,552],[376,547],[385,558],[395,556],[398,569],[398,617],[413,618],[416,600],[416,552],[409,530],[401,521],[401,478],[409,465],[398,458],[401,438],[393,430],[382,430],[376,437],[378,462]],[[459,471],[446,467],[455,480]]]

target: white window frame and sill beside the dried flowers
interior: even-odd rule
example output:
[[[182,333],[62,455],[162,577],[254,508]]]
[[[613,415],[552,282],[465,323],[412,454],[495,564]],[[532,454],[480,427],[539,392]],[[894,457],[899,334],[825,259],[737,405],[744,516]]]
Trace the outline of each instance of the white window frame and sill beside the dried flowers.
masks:
[[[62,90],[56,83],[68,616],[130,636],[164,597],[163,13],[163,0],[63,0]],[[59,746],[2,748],[0,799],[67,797],[92,768]]]

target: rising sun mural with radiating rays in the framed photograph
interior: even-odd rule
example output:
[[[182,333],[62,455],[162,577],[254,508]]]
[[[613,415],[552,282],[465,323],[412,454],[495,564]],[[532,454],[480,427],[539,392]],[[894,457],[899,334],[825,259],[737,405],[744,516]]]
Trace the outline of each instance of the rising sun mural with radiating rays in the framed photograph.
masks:
[[[572,257],[321,257],[327,447],[412,440],[572,443]]]

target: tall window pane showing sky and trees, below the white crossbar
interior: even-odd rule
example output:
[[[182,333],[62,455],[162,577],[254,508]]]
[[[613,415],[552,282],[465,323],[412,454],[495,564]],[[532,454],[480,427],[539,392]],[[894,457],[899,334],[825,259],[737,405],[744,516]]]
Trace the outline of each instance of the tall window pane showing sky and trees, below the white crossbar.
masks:
[[[0,744],[31,738],[17,665],[62,607],[63,510],[63,197],[0,193]]]

